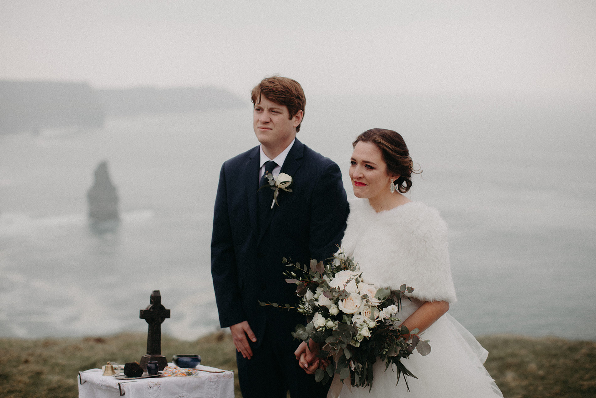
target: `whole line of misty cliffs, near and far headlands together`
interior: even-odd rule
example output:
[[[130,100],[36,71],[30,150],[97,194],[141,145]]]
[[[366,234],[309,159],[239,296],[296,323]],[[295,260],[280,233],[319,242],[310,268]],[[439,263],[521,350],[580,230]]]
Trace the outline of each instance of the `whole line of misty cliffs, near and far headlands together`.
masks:
[[[106,117],[242,107],[214,87],[94,89],[87,83],[0,80],[0,134],[97,128]]]

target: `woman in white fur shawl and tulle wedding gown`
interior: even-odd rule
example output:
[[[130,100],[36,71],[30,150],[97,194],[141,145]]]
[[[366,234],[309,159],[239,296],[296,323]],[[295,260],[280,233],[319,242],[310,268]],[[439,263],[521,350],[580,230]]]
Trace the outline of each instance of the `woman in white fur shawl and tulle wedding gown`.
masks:
[[[447,312],[455,302],[447,249],[447,226],[439,212],[403,194],[412,186],[413,162],[399,133],[367,130],[353,142],[350,179],[355,199],[342,249],[360,266],[362,278],[379,287],[414,288],[398,313],[409,330],[420,329],[432,351],[414,351],[403,365],[417,378],[396,385],[395,368],[377,360],[373,386],[347,387],[340,397],[502,397],[483,363],[488,352]],[[296,358],[308,373],[321,365],[311,343],[300,344]],[[332,387],[330,395],[335,395]]]

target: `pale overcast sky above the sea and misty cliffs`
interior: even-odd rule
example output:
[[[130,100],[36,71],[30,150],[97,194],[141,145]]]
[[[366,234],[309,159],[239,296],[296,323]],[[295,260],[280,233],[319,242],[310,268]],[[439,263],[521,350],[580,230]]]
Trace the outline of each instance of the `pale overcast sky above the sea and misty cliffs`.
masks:
[[[594,0],[6,0],[0,79],[594,94],[595,26]]]

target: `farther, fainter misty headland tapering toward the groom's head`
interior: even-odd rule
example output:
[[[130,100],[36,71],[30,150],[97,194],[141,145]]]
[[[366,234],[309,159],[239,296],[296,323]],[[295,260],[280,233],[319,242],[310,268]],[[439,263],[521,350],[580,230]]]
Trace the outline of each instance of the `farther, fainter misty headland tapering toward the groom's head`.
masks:
[[[108,116],[195,112],[244,105],[234,94],[215,87],[98,89]]]

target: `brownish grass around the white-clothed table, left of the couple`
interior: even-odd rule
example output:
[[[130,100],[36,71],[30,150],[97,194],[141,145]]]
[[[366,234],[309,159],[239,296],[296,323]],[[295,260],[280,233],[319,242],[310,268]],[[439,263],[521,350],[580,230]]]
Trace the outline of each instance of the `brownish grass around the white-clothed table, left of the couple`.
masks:
[[[77,372],[101,368],[109,360],[124,365],[140,361],[147,350],[147,334],[108,337],[0,338],[0,396],[4,398],[61,398],[78,396]],[[176,354],[201,355],[204,365],[237,373],[234,343],[223,332],[197,341],[162,336],[162,355],[169,362]],[[241,397],[237,377],[236,396]]]

